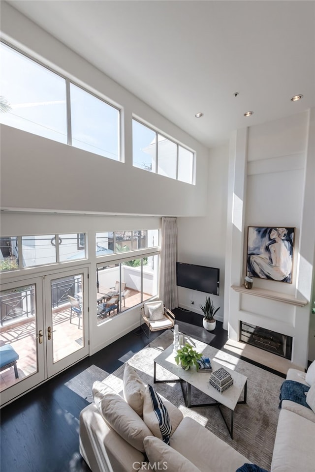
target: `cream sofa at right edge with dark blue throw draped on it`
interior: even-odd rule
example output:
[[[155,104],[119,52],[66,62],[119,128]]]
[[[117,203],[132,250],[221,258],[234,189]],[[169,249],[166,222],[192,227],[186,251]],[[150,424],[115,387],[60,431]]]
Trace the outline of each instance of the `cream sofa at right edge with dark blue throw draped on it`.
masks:
[[[288,370],[286,380],[311,384],[311,381],[310,384],[306,382],[306,374],[296,369]],[[315,413],[311,408],[283,400],[271,472],[300,471],[315,471]]]

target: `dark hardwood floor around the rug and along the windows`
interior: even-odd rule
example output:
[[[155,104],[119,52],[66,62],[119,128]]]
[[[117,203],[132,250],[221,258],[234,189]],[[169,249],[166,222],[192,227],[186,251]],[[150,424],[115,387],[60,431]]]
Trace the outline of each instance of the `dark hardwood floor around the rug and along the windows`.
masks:
[[[182,309],[173,310],[180,321],[202,326],[202,317]],[[91,357],[40,385],[1,409],[1,472],[87,472],[79,454],[79,414],[89,402],[66,383],[95,365],[114,372],[148,344],[134,330]],[[161,332],[151,335],[151,339]],[[217,322],[211,344],[221,349],[227,331]]]

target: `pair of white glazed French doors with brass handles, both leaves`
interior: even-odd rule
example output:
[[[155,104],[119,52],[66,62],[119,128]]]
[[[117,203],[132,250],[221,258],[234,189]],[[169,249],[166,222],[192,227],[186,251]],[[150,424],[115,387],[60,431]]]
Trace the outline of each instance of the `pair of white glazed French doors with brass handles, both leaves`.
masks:
[[[88,267],[25,282],[1,284],[0,406],[89,354]]]

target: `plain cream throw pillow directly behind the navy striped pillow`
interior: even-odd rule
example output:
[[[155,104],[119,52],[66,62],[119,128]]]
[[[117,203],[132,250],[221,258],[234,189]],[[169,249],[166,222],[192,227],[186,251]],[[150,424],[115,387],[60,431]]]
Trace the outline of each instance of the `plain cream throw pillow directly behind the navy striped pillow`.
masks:
[[[143,399],[146,390],[145,384],[140,379],[137,371],[128,363],[125,364],[124,370],[124,398],[127,404],[141,418],[143,416]]]

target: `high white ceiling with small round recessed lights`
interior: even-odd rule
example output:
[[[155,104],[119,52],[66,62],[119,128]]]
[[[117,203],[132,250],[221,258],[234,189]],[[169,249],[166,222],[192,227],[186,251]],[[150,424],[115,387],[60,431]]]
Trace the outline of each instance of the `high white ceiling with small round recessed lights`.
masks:
[[[8,3],[208,147],[315,106],[315,1]]]

